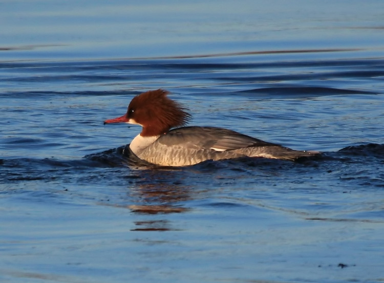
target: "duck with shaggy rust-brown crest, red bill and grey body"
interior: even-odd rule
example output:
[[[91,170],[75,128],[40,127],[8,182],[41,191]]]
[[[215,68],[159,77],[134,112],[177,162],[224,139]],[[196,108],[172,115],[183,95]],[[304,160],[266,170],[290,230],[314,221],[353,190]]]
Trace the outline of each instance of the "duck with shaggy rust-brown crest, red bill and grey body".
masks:
[[[184,126],[191,116],[186,108],[167,97],[164,90],[135,96],[126,114],[105,120],[142,126],[130,149],[140,159],[163,166],[194,165],[205,160],[264,157],[296,160],[318,154],[299,151],[252,138],[230,129]],[[181,127],[180,127],[181,126]],[[174,128],[179,127],[179,128]]]

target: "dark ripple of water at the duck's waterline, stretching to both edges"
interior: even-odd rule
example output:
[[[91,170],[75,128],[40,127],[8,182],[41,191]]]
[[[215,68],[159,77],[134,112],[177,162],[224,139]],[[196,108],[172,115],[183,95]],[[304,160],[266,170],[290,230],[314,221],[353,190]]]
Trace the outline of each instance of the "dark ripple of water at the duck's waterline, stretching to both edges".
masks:
[[[338,151],[332,152],[324,152],[322,155],[306,157],[303,159],[299,159],[297,162],[303,163],[303,161],[311,160],[313,162],[322,163],[323,161],[327,161],[330,159],[342,159],[349,158],[355,159],[357,162],[369,162],[370,159],[374,158],[384,161],[384,144],[361,144],[361,145],[352,145],[347,146]],[[257,160],[260,164],[264,163],[292,163],[291,161],[283,161],[283,160],[271,160],[265,158],[240,158],[236,160],[223,160],[223,161],[207,161],[203,162],[208,167],[212,164],[226,164],[226,165],[234,165],[236,162],[240,161],[240,163],[246,163],[251,160]],[[2,168],[0,176],[5,178],[8,175],[8,180],[22,180],[20,176],[24,175],[24,173],[28,173],[28,178],[25,179],[38,179],[33,176],[33,172],[41,172],[47,169],[63,169],[63,168],[100,168],[100,167],[145,167],[145,168],[156,168],[158,166],[154,166],[148,162],[138,159],[130,150],[129,145],[120,146],[118,148],[112,148],[105,151],[101,151],[100,153],[86,155],[81,159],[75,160],[57,160],[52,158],[45,159],[33,159],[33,158],[16,158],[16,159],[0,159],[0,166]],[[194,165],[199,166],[199,164]],[[191,166],[191,167],[194,167]],[[220,166],[219,166],[220,167]],[[15,177],[13,179],[13,177]],[[20,177],[20,178],[17,178]]]

